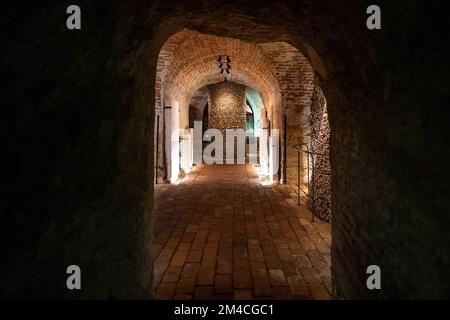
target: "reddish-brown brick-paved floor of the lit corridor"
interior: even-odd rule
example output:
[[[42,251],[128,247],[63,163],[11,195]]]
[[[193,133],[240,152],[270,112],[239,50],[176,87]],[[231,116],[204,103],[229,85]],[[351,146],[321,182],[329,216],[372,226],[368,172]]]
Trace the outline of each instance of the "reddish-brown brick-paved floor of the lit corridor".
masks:
[[[197,165],[155,186],[157,299],[329,299],[330,224],[251,165]]]

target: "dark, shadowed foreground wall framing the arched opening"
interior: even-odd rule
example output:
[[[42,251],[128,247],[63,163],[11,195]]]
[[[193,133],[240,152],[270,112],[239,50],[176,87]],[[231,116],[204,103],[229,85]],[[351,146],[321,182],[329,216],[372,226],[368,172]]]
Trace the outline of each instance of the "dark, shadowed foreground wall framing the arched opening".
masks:
[[[386,28],[372,32],[356,0],[96,1],[83,3],[78,33],[48,18],[64,4],[21,5],[5,9],[2,35],[2,296],[152,295],[155,72],[184,28],[288,43],[311,65],[328,106],[332,276],[344,297],[448,296],[448,60],[433,30],[447,19],[428,19],[433,5],[383,2]],[[252,88],[275,104],[272,77],[257,77]],[[86,286],[68,292],[60,272],[74,262]],[[370,264],[383,290],[367,290]]]

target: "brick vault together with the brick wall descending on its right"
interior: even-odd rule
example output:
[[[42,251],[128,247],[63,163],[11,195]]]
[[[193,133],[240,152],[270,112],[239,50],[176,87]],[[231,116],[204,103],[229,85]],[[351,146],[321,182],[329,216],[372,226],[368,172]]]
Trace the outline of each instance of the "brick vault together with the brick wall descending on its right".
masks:
[[[253,44],[183,29],[166,41],[159,54],[155,86],[157,112],[160,95],[165,91],[169,95],[183,95],[192,93],[192,88],[197,88],[199,83],[222,81],[213,58],[217,52],[231,56],[231,81],[245,83],[262,95],[267,116],[272,126],[275,124],[273,128],[280,129],[279,178],[284,183],[296,184],[297,153],[292,147],[307,141],[314,72],[306,57],[292,45]],[[196,94],[192,95],[193,102],[197,100]],[[284,116],[286,128],[282,126]],[[306,172],[306,165],[306,157],[301,154],[302,172]],[[304,179],[302,175],[302,183]]]

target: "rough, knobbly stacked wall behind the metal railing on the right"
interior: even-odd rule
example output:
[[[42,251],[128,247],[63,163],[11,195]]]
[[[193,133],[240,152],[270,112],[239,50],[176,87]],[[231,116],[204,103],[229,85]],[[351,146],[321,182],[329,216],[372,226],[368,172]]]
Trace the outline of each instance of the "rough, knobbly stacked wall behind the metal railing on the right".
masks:
[[[308,206],[314,215],[331,221],[330,125],[327,102],[319,85],[314,86],[310,113],[310,139],[314,154],[310,156],[311,181]]]

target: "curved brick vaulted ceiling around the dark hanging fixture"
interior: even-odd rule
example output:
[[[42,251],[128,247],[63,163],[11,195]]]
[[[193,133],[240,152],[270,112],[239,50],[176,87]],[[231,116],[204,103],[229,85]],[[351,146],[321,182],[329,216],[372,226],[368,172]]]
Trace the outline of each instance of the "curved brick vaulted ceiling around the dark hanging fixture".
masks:
[[[184,29],[161,48],[156,74],[157,107],[163,96],[189,101],[199,88],[223,81],[217,63],[219,55],[231,57],[228,80],[257,90],[268,111],[281,101],[283,79],[277,65],[284,62],[283,57],[291,60],[292,56],[298,56],[306,62],[287,43],[256,44]]]

